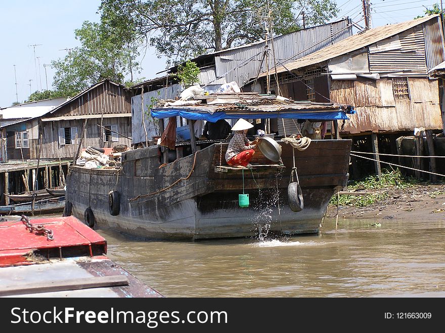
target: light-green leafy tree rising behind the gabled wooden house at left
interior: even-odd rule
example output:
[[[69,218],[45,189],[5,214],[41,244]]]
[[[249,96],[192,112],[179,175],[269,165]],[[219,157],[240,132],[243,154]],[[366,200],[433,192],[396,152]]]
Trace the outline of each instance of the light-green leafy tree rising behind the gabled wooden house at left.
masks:
[[[123,84],[126,74],[139,69],[136,58],[138,44],[133,29],[110,24],[110,15],[100,23],[85,21],[75,30],[81,47],[73,49],[64,59],[53,61],[56,69],[54,87],[66,96],[74,96],[103,79]]]

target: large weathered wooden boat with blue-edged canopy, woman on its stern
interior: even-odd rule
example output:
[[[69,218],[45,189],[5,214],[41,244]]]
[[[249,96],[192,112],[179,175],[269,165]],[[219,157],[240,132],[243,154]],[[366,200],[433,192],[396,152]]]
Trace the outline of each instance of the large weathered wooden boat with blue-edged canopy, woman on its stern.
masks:
[[[353,113],[339,104],[243,103],[156,107],[152,114],[161,120],[182,116],[193,127],[196,119],[333,120],[348,119],[346,112]],[[243,237],[264,230],[283,235],[317,233],[329,200],[348,180],[351,140],[313,140],[299,151],[276,137],[282,146],[280,162],[255,153],[252,165],[239,169],[225,163],[227,141],[195,142],[191,137],[192,141],[176,143],[176,154],[159,145],[123,152],[120,169],[71,166],[64,214],[90,226],[150,239]],[[304,198],[300,212],[292,211],[288,202],[293,154]],[[248,207],[239,205],[244,191],[250,197]]]

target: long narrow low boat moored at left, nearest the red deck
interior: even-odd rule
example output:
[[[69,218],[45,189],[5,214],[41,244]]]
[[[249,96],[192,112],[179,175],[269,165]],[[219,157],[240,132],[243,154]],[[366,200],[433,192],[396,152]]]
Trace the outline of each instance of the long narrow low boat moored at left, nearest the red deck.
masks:
[[[0,215],[21,215],[34,212],[34,215],[61,213],[65,207],[65,197],[48,198],[34,201],[34,210],[31,202],[23,202],[0,206]]]

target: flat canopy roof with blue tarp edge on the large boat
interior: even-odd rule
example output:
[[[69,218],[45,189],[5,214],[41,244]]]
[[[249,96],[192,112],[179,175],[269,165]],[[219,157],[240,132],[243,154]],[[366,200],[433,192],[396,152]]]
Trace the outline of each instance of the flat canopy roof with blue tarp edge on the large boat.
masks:
[[[153,108],[152,116],[156,118],[181,116],[186,119],[216,122],[219,119],[238,118],[341,120],[349,119],[347,113],[355,113],[351,106],[321,104],[164,106]]]

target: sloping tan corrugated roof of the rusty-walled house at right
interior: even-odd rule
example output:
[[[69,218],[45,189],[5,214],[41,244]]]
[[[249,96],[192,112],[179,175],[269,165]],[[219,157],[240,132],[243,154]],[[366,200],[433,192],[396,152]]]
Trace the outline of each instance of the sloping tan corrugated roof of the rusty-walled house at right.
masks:
[[[280,66],[277,68],[277,72],[281,73],[287,70],[294,70],[310,65],[319,64],[321,62],[344,55],[346,53],[360,50],[364,47],[377,43],[380,40],[392,37],[400,32],[411,29],[416,25],[422,24],[432,19],[436,19],[437,17],[438,15],[430,15],[411,21],[397,24],[387,24],[381,27],[366,30],[362,33],[347,37],[336,44],[316,51],[306,57],[291,62],[286,65],[286,68]],[[259,75],[259,77],[264,77],[266,75],[268,75],[268,73],[263,72]]]

